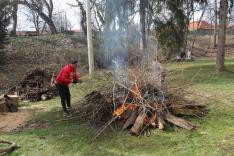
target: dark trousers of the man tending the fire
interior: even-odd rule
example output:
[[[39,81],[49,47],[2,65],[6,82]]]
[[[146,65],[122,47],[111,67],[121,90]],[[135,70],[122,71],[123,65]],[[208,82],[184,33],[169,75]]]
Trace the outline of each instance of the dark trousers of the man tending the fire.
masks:
[[[71,107],[71,94],[69,87],[64,84],[56,84],[56,87],[59,91],[63,111],[67,112],[67,107]]]

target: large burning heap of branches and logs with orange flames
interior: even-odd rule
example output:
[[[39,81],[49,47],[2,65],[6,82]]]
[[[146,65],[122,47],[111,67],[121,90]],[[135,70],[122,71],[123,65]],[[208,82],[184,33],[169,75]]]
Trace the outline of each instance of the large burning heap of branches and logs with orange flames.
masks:
[[[166,86],[159,64],[114,72],[113,85],[88,94],[79,106],[83,119],[103,124],[99,134],[112,123],[118,129],[140,135],[146,128],[163,130],[169,123],[192,130],[195,126],[183,115],[202,116],[204,105],[185,99],[185,93]]]

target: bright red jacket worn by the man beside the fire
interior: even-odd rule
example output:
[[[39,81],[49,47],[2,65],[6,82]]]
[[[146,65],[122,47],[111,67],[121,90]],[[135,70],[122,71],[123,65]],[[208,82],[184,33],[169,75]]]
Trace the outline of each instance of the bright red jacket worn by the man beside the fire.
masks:
[[[73,80],[78,80],[78,75],[76,70],[71,66],[71,64],[63,67],[58,76],[56,77],[56,83],[69,85]]]

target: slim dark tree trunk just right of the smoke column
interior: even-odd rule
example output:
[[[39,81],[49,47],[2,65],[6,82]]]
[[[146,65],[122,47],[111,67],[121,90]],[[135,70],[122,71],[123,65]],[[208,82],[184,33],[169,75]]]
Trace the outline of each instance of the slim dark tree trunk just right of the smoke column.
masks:
[[[140,27],[141,27],[141,50],[145,52],[146,49],[146,30],[145,30],[145,0],[140,0]]]

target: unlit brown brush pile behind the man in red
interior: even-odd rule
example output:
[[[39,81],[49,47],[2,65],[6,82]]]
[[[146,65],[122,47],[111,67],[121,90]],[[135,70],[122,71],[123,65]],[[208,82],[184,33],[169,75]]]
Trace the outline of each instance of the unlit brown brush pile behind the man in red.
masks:
[[[18,85],[9,89],[9,92],[17,92],[22,100],[40,101],[51,99],[57,94],[55,86],[51,84],[49,69],[34,68],[25,73]]]

